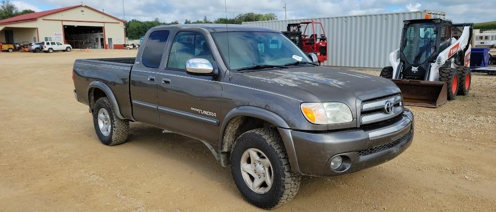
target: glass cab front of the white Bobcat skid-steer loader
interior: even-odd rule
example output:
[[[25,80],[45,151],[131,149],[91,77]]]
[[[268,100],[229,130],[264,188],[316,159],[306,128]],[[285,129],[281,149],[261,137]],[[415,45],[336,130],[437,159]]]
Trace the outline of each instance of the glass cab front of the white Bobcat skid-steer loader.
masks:
[[[434,24],[411,24],[406,29],[403,54],[410,64],[421,64],[435,51],[437,31]]]

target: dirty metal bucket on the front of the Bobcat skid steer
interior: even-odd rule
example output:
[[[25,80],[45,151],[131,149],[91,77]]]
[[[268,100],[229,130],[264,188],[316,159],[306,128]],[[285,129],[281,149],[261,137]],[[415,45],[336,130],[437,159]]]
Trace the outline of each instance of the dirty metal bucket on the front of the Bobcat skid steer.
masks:
[[[448,101],[446,83],[419,80],[392,80],[403,93],[405,105],[436,108]]]

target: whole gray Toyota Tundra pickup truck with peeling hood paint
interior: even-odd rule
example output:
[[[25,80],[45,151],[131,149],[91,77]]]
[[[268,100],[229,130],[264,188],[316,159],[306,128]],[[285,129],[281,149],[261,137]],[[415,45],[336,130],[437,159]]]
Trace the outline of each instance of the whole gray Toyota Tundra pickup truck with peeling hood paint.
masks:
[[[100,141],[124,143],[129,122],[195,138],[257,207],[292,199],[302,175],[370,168],[412,142],[414,117],[394,83],[317,66],[280,32],[159,26],[143,43],[135,58],[74,62],[74,95]]]

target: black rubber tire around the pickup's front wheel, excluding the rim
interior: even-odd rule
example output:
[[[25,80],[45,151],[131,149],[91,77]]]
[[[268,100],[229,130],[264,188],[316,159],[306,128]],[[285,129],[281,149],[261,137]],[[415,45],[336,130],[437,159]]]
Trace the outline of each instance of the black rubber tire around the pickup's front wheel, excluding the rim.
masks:
[[[269,159],[273,170],[273,182],[263,194],[252,191],[244,181],[241,172],[243,153],[256,148]],[[281,136],[276,129],[258,128],[249,130],[236,139],[231,152],[231,172],[234,182],[245,200],[262,209],[274,209],[295,197],[302,176],[291,171]]]

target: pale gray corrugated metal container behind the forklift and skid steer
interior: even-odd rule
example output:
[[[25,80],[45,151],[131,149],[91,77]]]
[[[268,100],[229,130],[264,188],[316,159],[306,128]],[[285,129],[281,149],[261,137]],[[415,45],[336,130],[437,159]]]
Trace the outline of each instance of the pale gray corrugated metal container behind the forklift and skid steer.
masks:
[[[327,18],[255,21],[243,22],[243,24],[287,31],[286,27],[291,23],[318,21],[322,23],[325,29],[328,42],[328,59],[322,65],[358,69],[382,69],[389,64],[389,53],[399,46],[403,20],[424,18],[426,13],[432,14],[432,18],[444,18],[445,16],[444,12],[424,10]],[[315,28],[316,34],[320,34],[320,27]]]

